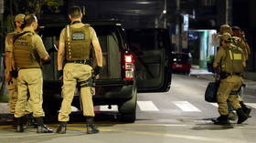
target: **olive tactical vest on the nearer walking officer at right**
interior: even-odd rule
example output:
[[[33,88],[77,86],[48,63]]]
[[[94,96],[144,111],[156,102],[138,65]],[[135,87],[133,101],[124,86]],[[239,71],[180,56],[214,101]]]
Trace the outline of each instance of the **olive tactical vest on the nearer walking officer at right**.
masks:
[[[225,46],[226,57],[221,61],[221,72],[240,74],[243,72],[243,52],[237,46]]]

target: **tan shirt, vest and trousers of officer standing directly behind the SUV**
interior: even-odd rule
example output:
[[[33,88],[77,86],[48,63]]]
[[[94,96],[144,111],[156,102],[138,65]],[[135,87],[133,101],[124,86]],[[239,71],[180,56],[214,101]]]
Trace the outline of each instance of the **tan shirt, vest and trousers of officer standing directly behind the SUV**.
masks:
[[[75,24],[66,26],[59,36],[59,43],[65,43],[65,60],[66,65],[63,69],[63,87],[62,87],[62,104],[59,112],[59,121],[62,126],[66,126],[71,113],[71,102],[74,97],[77,82],[86,82],[91,78],[92,67],[90,64],[91,43],[98,41],[94,29],[89,26],[75,21]],[[94,117],[94,108],[92,103],[91,87],[80,87],[80,98],[82,103],[83,115],[90,120]],[[61,125],[57,130],[61,131]],[[93,132],[99,132],[94,128]],[[89,132],[88,132],[89,133]]]

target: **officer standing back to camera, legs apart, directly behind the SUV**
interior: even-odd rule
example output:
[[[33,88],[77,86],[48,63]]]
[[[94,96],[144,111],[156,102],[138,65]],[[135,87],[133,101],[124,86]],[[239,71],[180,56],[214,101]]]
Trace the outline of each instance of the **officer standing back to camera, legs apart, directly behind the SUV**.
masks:
[[[77,82],[86,82],[91,78],[92,67],[90,64],[91,50],[95,52],[97,66],[94,68],[94,75],[101,72],[102,53],[99,40],[94,29],[81,23],[81,10],[79,6],[69,8],[69,19],[71,24],[62,29],[59,36],[58,70],[63,73],[62,104],[59,112],[59,128],[57,133],[65,134],[71,102],[74,97]],[[93,49],[91,49],[91,45]],[[63,69],[63,60],[66,65]],[[97,76],[97,77],[98,77]],[[93,124],[94,108],[92,103],[91,87],[80,88],[80,97],[83,115],[87,120],[87,133],[98,133],[99,129]]]

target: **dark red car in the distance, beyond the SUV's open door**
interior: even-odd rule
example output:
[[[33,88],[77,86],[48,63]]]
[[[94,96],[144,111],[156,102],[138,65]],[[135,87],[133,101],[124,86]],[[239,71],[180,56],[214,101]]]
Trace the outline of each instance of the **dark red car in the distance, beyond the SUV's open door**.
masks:
[[[174,72],[189,74],[191,68],[191,56],[189,53],[173,52],[171,67]]]

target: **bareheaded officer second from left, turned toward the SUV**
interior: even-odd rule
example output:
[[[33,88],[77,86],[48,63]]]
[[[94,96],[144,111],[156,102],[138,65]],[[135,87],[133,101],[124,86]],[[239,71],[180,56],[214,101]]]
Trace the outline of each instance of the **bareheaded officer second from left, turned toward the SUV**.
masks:
[[[13,37],[14,42],[14,61],[18,70],[17,87],[18,96],[15,109],[17,118],[16,131],[23,132],[25,108],[27,105],[27,91],[30,94],[33,117],[37,120],[37,133],[51,133],[44,125],[45,116],[42,108],[42,69],[41,60],[50,60],[45,46],[40,36],[35,33],[37,29],[37,17],[35,15],[26,15],[24,20],[25,28],[22,33]]]

